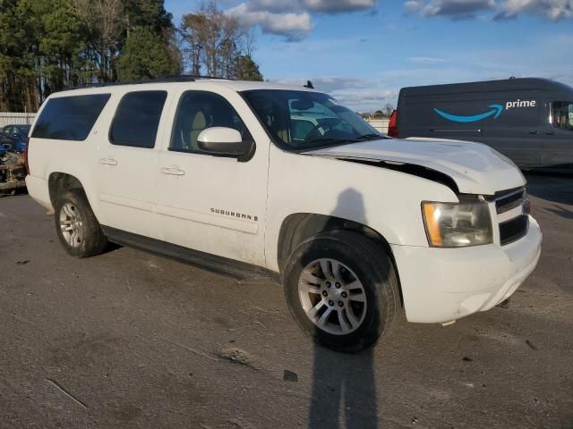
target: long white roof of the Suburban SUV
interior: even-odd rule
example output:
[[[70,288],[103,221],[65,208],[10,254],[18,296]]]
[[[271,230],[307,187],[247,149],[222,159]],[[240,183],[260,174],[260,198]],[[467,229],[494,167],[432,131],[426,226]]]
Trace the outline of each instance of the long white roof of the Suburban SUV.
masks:
[[[110,93],[121,88],[121,92],[130,90],[140,90],[143,88],[166,89],[166,88],[230,88],[237,92],[252,89],[286,89],[294,91],[314,91],[312,88],[295,87],[293,85],[284,85],[274,82],[258,82],[252,80],[224,80],[224,79],[198,79],[187,81],[153,81],[137,83],[118,83],[111,85],[101,85],[84,88],[74,88],[53,94],[51,97],[64,97],[70,95],[93,94],[93,93]]]

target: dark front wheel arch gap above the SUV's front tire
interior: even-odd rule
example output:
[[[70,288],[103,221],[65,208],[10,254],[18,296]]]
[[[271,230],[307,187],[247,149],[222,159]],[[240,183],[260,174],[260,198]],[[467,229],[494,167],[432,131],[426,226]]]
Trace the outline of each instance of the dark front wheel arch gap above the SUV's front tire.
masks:
[[[280,275],[284,273],[284,267],[288,257],[293,253],[304,240],[316,235],[320,232],[346,230],[355,231],[363,235],[363,237],[376,243],[381,251],[386,253],[394,266],[394,271],[398,280],[398,290],[400,294],[400,302],[404,305],[402,297],[402,286],[398,272],[396,259],[389,245],[388,240],[381,235],[380,232],[373,230],[371,227],[363,223],[357,223],[337,216],[328,214],[312,214],[312,213],[295,213],[289,214],[280,226],[278,233],[278,268]]]

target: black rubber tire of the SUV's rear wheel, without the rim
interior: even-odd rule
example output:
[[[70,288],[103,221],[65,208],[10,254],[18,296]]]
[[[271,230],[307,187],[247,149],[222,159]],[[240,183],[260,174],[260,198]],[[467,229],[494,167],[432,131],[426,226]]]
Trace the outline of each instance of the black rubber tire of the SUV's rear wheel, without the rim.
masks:
[[[64,238],[64,232],[61,228],[60,216],[66,204],[75,207],[77,216],[83,227],[83,237],[81,238],[81,242],[78,241],[75,247]],[[94,257],[105,250],[107,238],[101,230],[98,219],[96,219],[95,214],[91,211],[90,202],[82,189],[71,189],[59,196],[56,199],[54,210],[57,238],[68,254],[73,257]]]

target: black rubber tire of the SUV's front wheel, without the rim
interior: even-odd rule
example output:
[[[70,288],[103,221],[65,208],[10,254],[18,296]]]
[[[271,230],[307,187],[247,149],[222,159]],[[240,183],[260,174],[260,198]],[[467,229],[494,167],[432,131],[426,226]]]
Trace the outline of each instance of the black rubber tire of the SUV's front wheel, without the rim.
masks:
[[[362,282],[366,309],[362,324],[354,332],[323,331],[304,311],[298,290],[300,277],[304,267],[321,258],[346,265]],[[286,303],[296,322],[314,341],[336,351],[372,347],[389,332],[399,309],[398,281],[389,256],[372,240],[351,231],[321,232],[305,240],[286,262],[284,283]]]

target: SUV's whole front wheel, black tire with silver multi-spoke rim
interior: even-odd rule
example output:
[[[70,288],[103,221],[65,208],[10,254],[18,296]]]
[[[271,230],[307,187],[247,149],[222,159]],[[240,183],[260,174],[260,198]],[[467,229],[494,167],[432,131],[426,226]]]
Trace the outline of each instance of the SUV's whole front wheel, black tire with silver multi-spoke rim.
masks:
[[[327,231],[305,240],[286,261],[284,284],[302,330],[336,351],[372,347],[398,313],[394,265],[380,246],[355,232]]]

